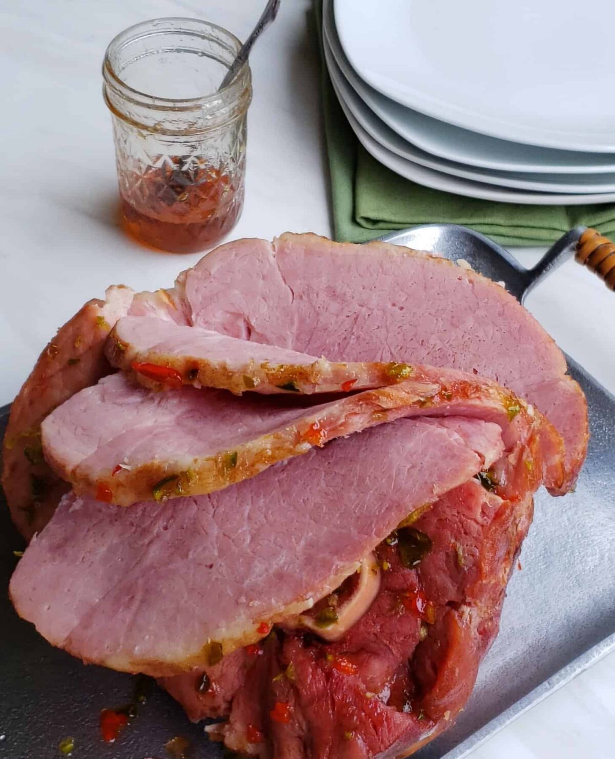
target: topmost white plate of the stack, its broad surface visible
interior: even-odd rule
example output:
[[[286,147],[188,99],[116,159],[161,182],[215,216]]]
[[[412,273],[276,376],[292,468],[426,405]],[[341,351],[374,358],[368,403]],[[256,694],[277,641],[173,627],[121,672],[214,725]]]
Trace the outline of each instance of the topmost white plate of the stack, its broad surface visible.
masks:
[[[335,0],[350,64],[403,106],[504,140],[615,153],[613,0]],[[598,34],[599,36],[599,34]]]

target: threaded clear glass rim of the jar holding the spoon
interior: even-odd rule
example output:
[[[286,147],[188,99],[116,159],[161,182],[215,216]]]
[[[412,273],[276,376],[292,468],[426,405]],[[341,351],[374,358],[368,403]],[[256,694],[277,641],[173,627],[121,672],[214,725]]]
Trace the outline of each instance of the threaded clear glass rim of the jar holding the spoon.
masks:
[[[165,23],[167,24],[166,27],[164,26]],[[216,100],[220,99],[221,96],[234,93],[234,90],[239,90],[239,93],[237,95],[239,96],[240,92],[242,92],[246,87],[245,77],[246,73],[249,71],[248,61],[243,64],[243,66],[237,72],[237,75],[234,77],[234,80],[232,80],[231,83],[227,84],[224,89],[216,90],[213,93],[209,93],[209,95],[199,95],[190,98],[167,98],[144,93],[141,90],[136,90],[134,87],[130,87],[130,85],[127,84],[116,73],[114,65],[111,62],[111,55],[114,52],[117,52],[121,49],[121,47],[127,45],[133,40],[140,39],[142,36],[155,36],[156,33],[165,33],[169,30],[174,30],[176,28],[174,27],[174,24],[190,24],[196,27],[196,29],[200,27],[202,30],[221,32],[234,46],[236,53],[240,50],[241,42],[237,36],[235,36],[229,30],[224,29],[224,27],[219,26],[218,24],[212,24],[210,21],[199,18],[190,18],[187,16],[165,16],[151,18],[149,20],[140,21],[138,24],[133,24],[132,26],[127,27],[120,33],[116,34],[113,39],[111,39],[111,42],[108,44],[107,49],[105,50],[105,58],[102,61],[102,76],[105,80],[106,85],[108,87],[111,87],[112,90],[115,90],[115,92],[121,97],[130,99],[139,106],[144,106],[146,108],[152,109],[169,109],[182,111],[193,109],[196,110],[202,109],[203,106],[207,106],[209,103],[215,102]],[[149,29],[149,27],[152,26],[156,26],[158,28],[146,35],[137,34],[140,31],[146,31]],[[185,29],[184,31],[193,33],[193,31],[196,30]]]

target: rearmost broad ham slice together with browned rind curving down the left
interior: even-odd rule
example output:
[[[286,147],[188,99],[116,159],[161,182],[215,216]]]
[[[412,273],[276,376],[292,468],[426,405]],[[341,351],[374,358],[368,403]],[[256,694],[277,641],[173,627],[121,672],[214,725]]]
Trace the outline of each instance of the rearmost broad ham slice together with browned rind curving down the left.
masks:
[[[489,376],[542,411],[563,436],[573,487],[588,441],[585,398],[544,329],[499,285],[447,260],[373,242],[337,244],[282,235],[273,244],[219,247],[174,288],[109,288],[42,352],[14,401],[2,484],[17,528],[30,538],[67,487],[42,461],[39,426],[59,404],[110,369],[108,328],[127,314],[198,326],[333,364],[406,362]],[[77,361],[77,363],[74,363]]]

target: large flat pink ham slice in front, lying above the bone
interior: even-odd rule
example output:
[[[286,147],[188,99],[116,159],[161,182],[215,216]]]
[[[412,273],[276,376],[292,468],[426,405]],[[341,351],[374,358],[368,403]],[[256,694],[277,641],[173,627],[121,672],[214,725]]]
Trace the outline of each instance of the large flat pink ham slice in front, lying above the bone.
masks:
[[[88,662],[154,676],[215,664],[333,591],[503,447],[491,422],[402,419],[209,496],[118,509],[71,493],[20,559],[11,599]]]

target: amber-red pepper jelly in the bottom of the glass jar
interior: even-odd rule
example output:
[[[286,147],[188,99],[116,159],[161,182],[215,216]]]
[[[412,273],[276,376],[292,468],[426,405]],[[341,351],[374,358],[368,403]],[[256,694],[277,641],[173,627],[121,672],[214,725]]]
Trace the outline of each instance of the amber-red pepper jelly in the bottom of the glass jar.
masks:
[[[171,253],[212,247],[234,228],[243,172],[195,156],[161,156],[140,174],[120,176],[121,222],[137,241]]]

